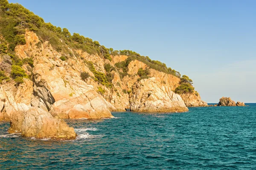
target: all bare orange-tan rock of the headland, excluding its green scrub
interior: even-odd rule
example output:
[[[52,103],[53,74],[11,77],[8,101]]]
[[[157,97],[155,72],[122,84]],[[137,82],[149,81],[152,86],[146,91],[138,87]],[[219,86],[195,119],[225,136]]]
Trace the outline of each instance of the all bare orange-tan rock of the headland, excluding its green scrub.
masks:
[[[68,46],[63,54],[28,30],[25,39],[26,44],[17,45],[15,52],[20,59],[33,59],[33,67],[22,66],[31,79],[24,79],[20,85],[13,80],[4,80],[0,86],[0,120],[11,122],[9,131],[12,133],[73,139],[76,136],[73,128],[61,119],[111,118],[111,111],[125,111],[126,108],[145,112],[184,112],[188,111],[186,105],[205,105],[200,96],[180,97],[173,92],[179,85],[178,77],[149,68],[137,59],[129,62],[126,74],[116,69],[107,73],[105,65],[115,68],[115,64],[125,62],[128,56],[111,56],[110,61]],[[62,55],[67,60],[62,61]],[[95,71],[111,75],[110,87],[96,81],[88,62],[93,63]],[[0,55],[0,69],[9,76],[11,64],[8,55]],[[140,68],[147,68],[148,76],[152,78],[138,82]],[[88,73],[89,77],[82,80],[81,72]]]

